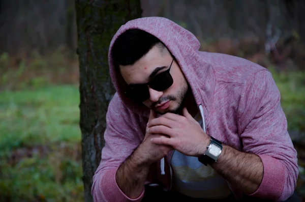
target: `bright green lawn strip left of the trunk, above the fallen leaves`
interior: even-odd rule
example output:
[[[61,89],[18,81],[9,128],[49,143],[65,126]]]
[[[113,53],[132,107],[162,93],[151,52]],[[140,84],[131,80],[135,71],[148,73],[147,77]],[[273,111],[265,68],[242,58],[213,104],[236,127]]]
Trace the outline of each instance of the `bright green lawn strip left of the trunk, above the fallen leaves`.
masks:
[[[0,150],[80,141],[79,93],[75,86],[0,95]]]

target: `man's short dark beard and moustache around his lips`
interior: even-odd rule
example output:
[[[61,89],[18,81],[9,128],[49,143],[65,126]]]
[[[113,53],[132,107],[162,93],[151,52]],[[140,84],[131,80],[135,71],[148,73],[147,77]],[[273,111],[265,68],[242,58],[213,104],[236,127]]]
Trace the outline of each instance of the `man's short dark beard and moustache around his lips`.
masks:
[[[167,100],[176,101],[178,106],[175,107],[174,109],[170,109],[170,110],[167,110],[165,112],[160,112],[160,111],[156,111],[156,110],[155,111],[157,113],[161,114],[161,115],[165,114],[165,113],[168,113],[168,112],[181,115],[182,114],[182,109],[184,108],[184,106],[186,104],[185,103],[185,98],[186,98],[187,94],[190,93],[190,91],[191,91],[191,88],[190,88],[189,84],[187,84],[187,86],[184,86],[182,89],[179,90],[179,92],[177,93],[176,96],[170,95],[170,96],[161,98],[158,101],[158,103],[156,103],[154,106],[156,106],[157,104],[162,103],[164,101],[167,101]]]

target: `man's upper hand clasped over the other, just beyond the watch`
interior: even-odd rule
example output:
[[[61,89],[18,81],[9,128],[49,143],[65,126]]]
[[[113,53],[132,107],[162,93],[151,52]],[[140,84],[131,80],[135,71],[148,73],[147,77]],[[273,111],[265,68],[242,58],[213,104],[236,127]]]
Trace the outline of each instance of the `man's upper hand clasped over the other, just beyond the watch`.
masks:
[[[148,132],[165,134],[169,137],[149,136],[156,145],[167,145],[188,156],[200,156],[206,151],[210,142],[209,136],[202,130],[200,124],[191,116],[187,108],[183,116],[166,113],[147,124]]]

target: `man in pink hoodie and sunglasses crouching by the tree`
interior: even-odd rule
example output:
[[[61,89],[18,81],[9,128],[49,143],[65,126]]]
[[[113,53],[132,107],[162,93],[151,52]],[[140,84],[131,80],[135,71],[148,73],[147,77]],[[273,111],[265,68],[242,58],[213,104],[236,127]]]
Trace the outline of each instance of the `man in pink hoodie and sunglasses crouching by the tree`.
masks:
[[[161,17],[119,28],[95,201],[293,201],[296,151],[272,75],[199,47]]]

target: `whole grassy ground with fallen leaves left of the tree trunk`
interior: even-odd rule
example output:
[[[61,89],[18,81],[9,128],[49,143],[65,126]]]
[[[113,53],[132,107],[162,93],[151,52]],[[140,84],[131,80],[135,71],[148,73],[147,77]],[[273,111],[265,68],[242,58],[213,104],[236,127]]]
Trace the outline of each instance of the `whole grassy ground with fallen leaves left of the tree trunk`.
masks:
[[[78,105],[73,85],[0,93],[0,201],[82,201]]]

